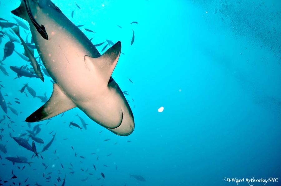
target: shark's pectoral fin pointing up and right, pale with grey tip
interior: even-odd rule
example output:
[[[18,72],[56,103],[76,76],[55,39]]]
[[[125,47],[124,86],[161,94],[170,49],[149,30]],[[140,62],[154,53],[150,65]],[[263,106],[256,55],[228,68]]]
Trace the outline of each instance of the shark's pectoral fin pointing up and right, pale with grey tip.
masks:
[[[103,55],[97,58],[84,56],[86,67],[95,71],[101,77],[101,81],[108,84],[111,74],[117,64],[121,52],[121,42],[111,46]]]

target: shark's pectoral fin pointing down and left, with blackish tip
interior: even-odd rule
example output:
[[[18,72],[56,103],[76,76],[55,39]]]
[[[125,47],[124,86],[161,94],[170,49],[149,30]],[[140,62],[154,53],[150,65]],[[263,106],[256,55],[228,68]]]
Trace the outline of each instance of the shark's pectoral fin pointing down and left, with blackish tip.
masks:
[[[37,122],[47,120],[75,107],[76,105],[73,101],[64,94],[56,83],[54,83],[53,93],[50,99],[42,107],[33,112],[32,115],[28,116],[25,121]]]

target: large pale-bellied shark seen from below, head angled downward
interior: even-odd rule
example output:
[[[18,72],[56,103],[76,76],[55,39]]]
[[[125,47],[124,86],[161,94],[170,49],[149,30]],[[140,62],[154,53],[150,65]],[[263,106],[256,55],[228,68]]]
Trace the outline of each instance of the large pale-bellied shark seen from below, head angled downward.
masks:
[[[45,27],[48,40],[33,25],[25,3],[36,22]],[[133,113],[111,77],[120,56],[121,42],[101,56],[84,33],[50,0],[23,0],[12,13],[29,23],[39,56],[55,82],[51,98],[26,121],[46,120],[78,107],[116,135],[130,135],[135,128]]]

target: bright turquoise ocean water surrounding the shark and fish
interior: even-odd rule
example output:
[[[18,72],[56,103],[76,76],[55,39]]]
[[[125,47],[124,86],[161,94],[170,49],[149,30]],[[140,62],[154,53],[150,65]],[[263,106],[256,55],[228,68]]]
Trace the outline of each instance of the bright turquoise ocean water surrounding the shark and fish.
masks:
[[[117,136],[78,108],[29,127],[25,119],[43,103],[19,90],[28,83],[36,95],[46,93],[49,98],[53,83],[46,75],[44,83],[38,78],[16,78],[9,66],[31,66],[15,52],[22,53],[23,46],[14,42],[15,51],[2,61],[8,76],[0,71],[1,94],[18,114],[0,109],[0,118],[5,116],[0,144],[7,149],[0,151],[1,184],[62,185],[65,176],[65,185],[122,186],[237,185],[225,179],[280,179],[280,1],[52,2],[75,25],[84,25],[80,29],[93,38],[92,43],[121,41],[123,54],[112,77],[122,91],[128,91],[135,130]],[[19,4],[1,0],[0,17],[17,23],[11,11]],[[13,35],[10,28],[1,31]],[[20,27],[24,40],[28,33]],[[4,48],[9,37],[0,38]],[[31,34],[27,40],[31,41]],[[106,43],[96,47],[101,54]],[[82,127],[76,114],[89,124],[87,130],[69,128],[71,121]],[[41,131],[36,136],[44,140],[35,143],[38,152],[56,136],[39,158],[31,158],[34,153],[12,137],[33,131],[37,124]],[[5,159],[17,156],[33,163],[12,165]],[[12,171],[17,178],[11,179]],[[252,184],[264,183],[239,183]],[[280,181],[266,185],[280,185]]]

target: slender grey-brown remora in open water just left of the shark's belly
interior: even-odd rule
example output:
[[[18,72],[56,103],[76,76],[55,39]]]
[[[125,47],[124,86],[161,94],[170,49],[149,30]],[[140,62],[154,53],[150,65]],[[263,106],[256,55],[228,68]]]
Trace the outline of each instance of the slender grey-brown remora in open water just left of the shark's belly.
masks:
[[[25,51],[25,55],[28,57],[28,59],[30,60],[31,62],[31,65],[33,67],[33,70],[35,72],[35,74],[44,82],[44,77],[43,77],[43,74],[41,72],[41,68],[37,62],[37,60],[35,59],[34,55],[32,54],[32,52],[29,50],[29,48],[27,47],[26,43],[23,41],[22,37],[20,36],[19,34],[19,27],[14,27],[12,28],[12,31],[15,32],[15,34],[19,37],[19,39],[21,40],[22,42],[22,46],[24,48],[24,51]]]

